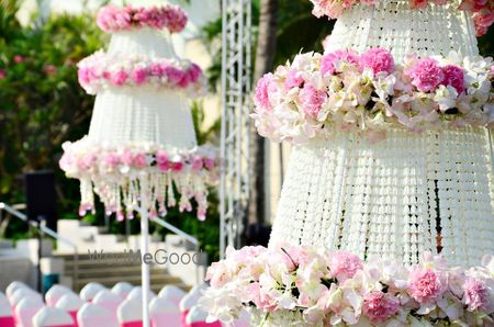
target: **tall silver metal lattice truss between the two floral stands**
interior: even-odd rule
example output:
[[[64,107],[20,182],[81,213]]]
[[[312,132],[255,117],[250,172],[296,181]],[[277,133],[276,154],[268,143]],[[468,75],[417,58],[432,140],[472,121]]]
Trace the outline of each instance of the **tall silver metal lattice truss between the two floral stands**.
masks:
[[[249,195],[251,0],[222,0],[220,255],[240,246]]]

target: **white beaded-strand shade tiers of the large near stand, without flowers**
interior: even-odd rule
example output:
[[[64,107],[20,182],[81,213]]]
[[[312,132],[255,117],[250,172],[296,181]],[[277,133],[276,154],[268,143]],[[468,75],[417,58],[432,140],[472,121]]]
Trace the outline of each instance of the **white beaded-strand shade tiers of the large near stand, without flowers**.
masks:
[[[336,22],[326,50],[385,47],[402,60],[478,55],[471,19],[449,5],[408,1],[356,5]],[[494,252],[494,178],[489,131],[414,135],[390,131],[369,144],[344,133],[293,148],[270,246],[346,249],[415,263],[425,250],[472,266]]]

